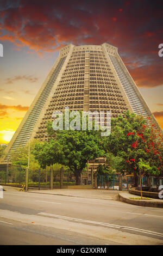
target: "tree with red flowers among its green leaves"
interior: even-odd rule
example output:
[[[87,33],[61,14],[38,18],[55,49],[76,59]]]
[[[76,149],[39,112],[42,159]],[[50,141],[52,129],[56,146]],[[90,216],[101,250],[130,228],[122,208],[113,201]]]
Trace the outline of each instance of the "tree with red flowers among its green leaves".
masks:
[[[151,118],[147,121],[129,111],[124,115],[111,120],[111,135],[104,141],[106,152],[121,157],[118,170],[133,173],[134,186],[138,185],[140,161],[149,166],[143,175],[162,178],[162,133]]]

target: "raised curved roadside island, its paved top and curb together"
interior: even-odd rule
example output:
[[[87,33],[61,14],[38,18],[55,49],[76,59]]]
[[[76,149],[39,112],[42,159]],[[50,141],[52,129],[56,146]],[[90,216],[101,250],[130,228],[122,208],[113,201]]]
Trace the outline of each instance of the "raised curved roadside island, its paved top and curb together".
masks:
[[[135,200],[131,198],[141,198],[140,196],[137,196],[135,194],[130,194],[128,191],[121,191],[118,193],[119,198],[122,202],[128,203],[128,204],[135,204],[140,206],[146,206],[146,207],[157,207],[157,208],[163,208],[163,200],[162,199],[154,199],[150,198],[149,200]],[[143,197],[145,198],[145,197]]]

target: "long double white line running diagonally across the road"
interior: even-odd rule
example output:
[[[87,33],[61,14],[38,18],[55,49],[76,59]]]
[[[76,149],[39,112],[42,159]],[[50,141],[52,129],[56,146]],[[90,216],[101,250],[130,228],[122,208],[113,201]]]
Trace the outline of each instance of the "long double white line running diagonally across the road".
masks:
[[[46,212],[40,212],[39,215],[45,215],[45,216],[49,216],[49,217],[62,218],[62,219],[71,220],[71,221],[81,221],[81,222],[87,222],[87,223],[91,223],[91,224],[105,225],[106,227],[111,227],[111,228],[123,228],[123,229],[133,230],[133,231],[137,231],[137,232],[141,232],[141,233],[145,233],[145,234],[149,234],[149,235],[156,235],[156,236],[163,237],[163,233],[158,233],[158,232],[151,231],[151,230],[146,230],[146,229],[140,229],[140,228],[134,228],[134,227],[126,227],[126,226],[115,225],[115,224],[104,223],[104,222],[96,222],[96,221],[83,220],[83,219],[79,219],[79,218],[72,218],[72,217],[67,217],[67,216],[48,214]]]

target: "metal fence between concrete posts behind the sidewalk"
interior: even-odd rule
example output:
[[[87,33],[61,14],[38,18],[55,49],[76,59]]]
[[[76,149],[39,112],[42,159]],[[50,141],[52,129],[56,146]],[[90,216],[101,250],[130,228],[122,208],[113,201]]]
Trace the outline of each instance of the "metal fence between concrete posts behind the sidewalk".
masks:
[[[85,177],[85,176],[84,176]],[[50,186],[50,170],[35,170],[35,172],[29,170],[29,179],[28,186],[29,188],[49,188]],[[108,189],[108,190],[128,190],[130,187],[133,187],[134,181],[133,176],[122,175],[121,184],[120,184],[120,175],[100,175],[97,176],[97,188],[99,189]],[[0,171],[0,184],[17,184],[22,185],[26,181],[26,170],[21,166],[15,166],[12,168],[4,169]],[[142,186],[147,186],[147,177],[142,178]],[[75,185],[74,175],[71,172],[65,171],[63,175],[63,185]],[[81,179],[81,185],[91,184],[91,180]],[[159,185],[163,185],[163,180],[159,180]],[[53,171],[53,186],[54,188],[60,187],[60,170]],[[156,179],[151,178],[151,187],[156,187]]]

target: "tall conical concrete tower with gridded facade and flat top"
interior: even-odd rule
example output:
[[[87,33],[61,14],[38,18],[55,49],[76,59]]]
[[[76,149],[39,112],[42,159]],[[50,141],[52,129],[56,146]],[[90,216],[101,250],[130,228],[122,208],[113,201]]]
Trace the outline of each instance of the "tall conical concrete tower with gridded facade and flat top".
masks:
[[[117,52],[102,45],[61,48],[32,105],[12,137],[6,152],[25,145],[29,138],[46,139],[46,123],[57,110],[111,111],[116,118],[128,109],[153,118],[133,78]],[[3,163],[7,162],[7,157]],[[97,163],[98,164],[98,163]],[[95,165],[97,165],[95,164]]]

